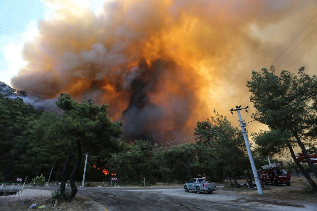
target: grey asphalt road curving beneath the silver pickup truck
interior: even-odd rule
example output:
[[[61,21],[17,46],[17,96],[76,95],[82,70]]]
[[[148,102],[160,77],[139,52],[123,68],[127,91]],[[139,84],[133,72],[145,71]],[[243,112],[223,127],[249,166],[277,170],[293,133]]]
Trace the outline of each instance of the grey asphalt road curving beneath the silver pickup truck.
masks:
[[[37,189],[56,189],[27,187]],[[226,191],[212,194],[184,192],[180,187],[156,188],[78,188],[78,195],[100,203],[108,211],[138,210],[316,210],[316,204],[263,200],[259,197],[242,197]],[[101,208],[101,207],[100,207]]]

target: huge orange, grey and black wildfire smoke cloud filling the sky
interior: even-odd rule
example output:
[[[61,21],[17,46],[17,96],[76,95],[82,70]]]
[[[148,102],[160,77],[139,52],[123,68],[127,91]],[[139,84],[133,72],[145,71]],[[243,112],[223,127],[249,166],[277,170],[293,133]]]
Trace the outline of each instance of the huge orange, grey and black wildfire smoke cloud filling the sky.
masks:
[[[53,109],[61,92],[109,104],[112,120],[124,121],[123,139],[156,142],[192,135],[213,109],[236,126],[229,109],[241,98],[239,104],[254,112],[245,95],[252,69],[269,67],[317,12],[314,0],[44,4],[49,15],[44,13],[32,39],[23,42],[25,63],[11,85],[46,109]],[[275,67],[316,26],[317,17]],[[317,29],[277,72],[299,59],[316,37]],[[311,49],[290,71],[305,65],[308,74],[316,74],[316,53],[317,47]],[[251,132],[267,128],[253,123]]]

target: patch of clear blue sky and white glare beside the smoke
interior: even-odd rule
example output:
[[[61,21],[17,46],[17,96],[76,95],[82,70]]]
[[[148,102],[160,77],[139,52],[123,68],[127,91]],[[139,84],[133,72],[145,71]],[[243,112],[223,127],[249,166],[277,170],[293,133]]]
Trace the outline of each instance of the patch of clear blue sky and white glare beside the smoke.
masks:
[[[44,9],[40,0],[0,0],[0,81],[10,85],[10,78],[25,64],[17,54],[36,32]]]

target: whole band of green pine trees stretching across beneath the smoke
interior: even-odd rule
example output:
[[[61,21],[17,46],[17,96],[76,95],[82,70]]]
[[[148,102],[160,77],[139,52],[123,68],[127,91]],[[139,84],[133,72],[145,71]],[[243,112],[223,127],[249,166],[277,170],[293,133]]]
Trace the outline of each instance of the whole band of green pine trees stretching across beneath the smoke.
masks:
[[[309,77],[304,68],[299,76],[288,71],[277,76],[274,67],[253,71],[252,75],[247,85],[256,108],[252,117],[270,128],[249,134],[256,143],[252,147],[256,167],[268,164],[267,156],[290,152],[293,161],[288,167],[301,172],[316,189],[308,174],[317,176],[316,167],[299,163],[293,151],[295,146],[305,156],[309,147],[316,151],[316,77]],[[144,177],[147,184],[185,182],[201,176],[215,182],[232,177],[236,184],[236,177],[252,180],[240,128],[216,110],[209,119],[197,122],[193,137],[152,144],[148,140],[120,140],[124,122],[110,121],[107,105],[94,105],[91,99],[75,102],[65,93],[56,105],[63,111],[61,115],[36,110],[21,98],[0,94],[1,181],[41,174],[48,178],[53,165],[51,181],[61,181],[65,188],[69,178],[74,196],[75,181],[82,180],[86,152],[86,181],[108,181],[113,176],[122,185],[140,184]]]

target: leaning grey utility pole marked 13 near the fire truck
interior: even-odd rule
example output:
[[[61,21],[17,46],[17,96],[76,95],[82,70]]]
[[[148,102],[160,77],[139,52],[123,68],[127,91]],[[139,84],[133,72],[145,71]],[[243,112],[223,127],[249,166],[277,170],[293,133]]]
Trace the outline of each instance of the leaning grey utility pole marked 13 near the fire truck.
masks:
[[[249,145],[248,136],[247,136],[246,131],[245,131],[246,124],[243,122],[243,120],[241,118],[241,114],[240,114],[240,110],[247,109],[247,108],[249,108],[249,106],[247,106],[246,108],[241,108],[241,106],[239,106],[239,107],[236,106],[236,109],[230,109],[230,111],[231,111],[231,114],[233,114],[232,111],[236,111],[238,113],[240,127],[242,129],[243,138],[244,138],[244,141],[245,141],[245,146],[247,147],[247,150],[248,150],[248,155],[249,155],[250,164],[251,164],[251,167],[252,167],[254,180],[256,181],[256,187],[258,189],[258,193],[259,194],[263,194],[262,186],[260,184],[260,180],[259,180],[259,177],[258,177],[258,174],[257,174],[257,171],[256,171],[256,164],[254,163],[253,156],[252,156],[251,149],[250,149],[250,145]]]

